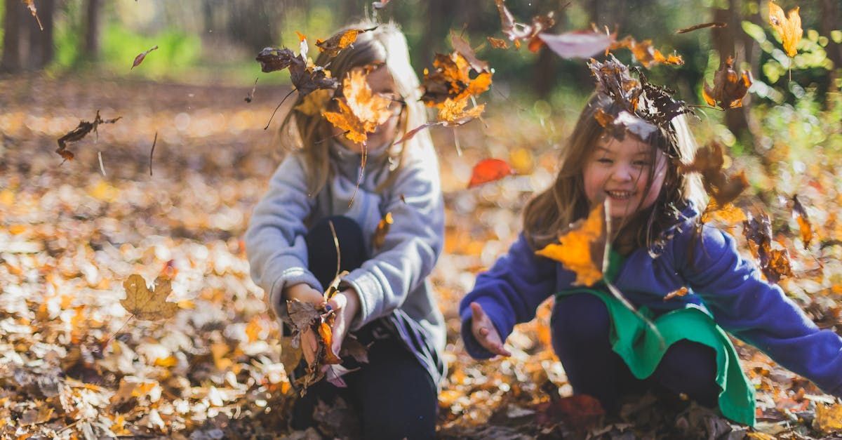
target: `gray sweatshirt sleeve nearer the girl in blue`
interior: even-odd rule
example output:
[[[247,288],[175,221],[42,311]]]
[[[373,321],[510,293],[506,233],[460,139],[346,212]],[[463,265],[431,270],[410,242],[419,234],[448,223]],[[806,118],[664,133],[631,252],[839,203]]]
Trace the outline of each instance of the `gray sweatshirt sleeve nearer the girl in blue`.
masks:
[[[385,191],[383,209],[392,213],[393,223],[382,246],[342,279],[360,297],[351,330],[399,308],[433,271],[441,253],[445,208],[438,159],[432,146],[419,148],[423,149],[408,155],[392,188]]]

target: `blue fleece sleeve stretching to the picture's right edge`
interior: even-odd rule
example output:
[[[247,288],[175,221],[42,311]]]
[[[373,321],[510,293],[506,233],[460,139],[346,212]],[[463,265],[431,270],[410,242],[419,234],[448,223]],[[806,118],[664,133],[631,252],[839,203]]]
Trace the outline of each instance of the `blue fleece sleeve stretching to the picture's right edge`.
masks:
[[[695,261],[680,271],[717,324],[825,392],[842,396],[842,338],[819,330],[781,287],[761,278],[730,235],[701,229],[690,247]]]

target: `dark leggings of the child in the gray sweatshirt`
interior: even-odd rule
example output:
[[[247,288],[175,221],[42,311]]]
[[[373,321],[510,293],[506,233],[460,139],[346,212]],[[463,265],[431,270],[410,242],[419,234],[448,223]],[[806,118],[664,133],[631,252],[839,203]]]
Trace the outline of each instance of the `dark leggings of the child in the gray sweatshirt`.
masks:
[[[306,235],[307,265],[322,286],[336,274],[333,228],[339,241],[341,270],[351,271],[368,259],[360,226],[348,217],[329,217],[314,225]],[[354,332],[360,341],[372,341],[369,363],[343,376],[348,388],[338,388],[322,380],[307,389],[292,410],[292,427],[303,430],[318,427],[312,415],[318,400],[332,403],[342,397],[360,415],[365,438],[433,438],[438,393],[427,370],[407,346],[384,333],[384,325],[374,321]],[[351,361],[353,362],[353,361]],[[345,362],[343,362],[345,363]]]

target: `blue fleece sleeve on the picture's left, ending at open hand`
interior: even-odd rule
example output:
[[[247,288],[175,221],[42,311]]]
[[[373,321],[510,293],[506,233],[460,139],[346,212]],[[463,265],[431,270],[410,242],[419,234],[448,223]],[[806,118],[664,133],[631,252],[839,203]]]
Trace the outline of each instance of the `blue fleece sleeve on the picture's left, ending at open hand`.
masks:
[[[505,341],[515,324],[535,318],[536,309],[555,292],[557,264],[535,255],[523,233],[491,270],[477,276],[477,283],[459,304],[462,341],[475,359],[492,357],[471,331],[471,303],[479,303]]]

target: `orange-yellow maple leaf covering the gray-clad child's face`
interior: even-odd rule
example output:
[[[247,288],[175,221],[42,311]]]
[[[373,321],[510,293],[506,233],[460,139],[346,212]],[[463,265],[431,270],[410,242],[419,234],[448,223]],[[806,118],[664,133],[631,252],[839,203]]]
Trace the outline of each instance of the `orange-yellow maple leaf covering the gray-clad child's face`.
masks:
[[[392,117],[392,104],[379,94],[374,94],[369,87],[366,74],[362,69],[348,72],[342,82],[343,99],[336,99],[339,111],[325,111],[322,115],[333,126],[345,131],[345,137],[353,142],[364,143],[367,133],[373,133],[377,126]]]

